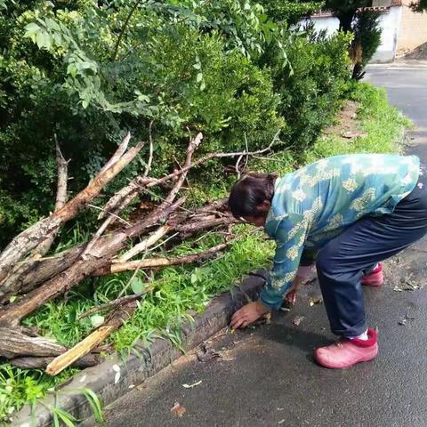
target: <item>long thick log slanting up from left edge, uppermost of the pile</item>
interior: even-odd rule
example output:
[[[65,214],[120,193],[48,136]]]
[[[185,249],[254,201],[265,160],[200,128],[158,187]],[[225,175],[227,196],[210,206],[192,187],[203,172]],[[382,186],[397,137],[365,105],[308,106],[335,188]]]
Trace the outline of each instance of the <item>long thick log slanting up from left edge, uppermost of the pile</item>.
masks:
[[[85,189],[68,201],[66,205],[62,206],[60,210],[36,222],[27,230],[22,231],[17,237],[13,238],[12,242],[0,254],[0,282],[4,280],[6,273],[11,270],[12,265],[18,262],[23,255],[34,249],[44,240],[45,236],[49,235],[60,224],[74,218],[83,206],[89,203],[93,197],[98,196],[101,189],[133,160],[140,152],[142,146],[143,143],[140,142],[132,149],[129,149],[109,169],[99,173]],[[4,294],[4,286],[0,287],[0,294]]]

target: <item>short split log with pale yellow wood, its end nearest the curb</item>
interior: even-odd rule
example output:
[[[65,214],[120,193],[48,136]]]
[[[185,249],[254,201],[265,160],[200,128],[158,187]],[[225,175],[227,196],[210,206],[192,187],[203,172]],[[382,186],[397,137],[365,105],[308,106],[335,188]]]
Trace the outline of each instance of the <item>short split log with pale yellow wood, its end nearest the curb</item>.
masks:
[[[120,309],[114,311],[105,325],[102,325],[93,331],[92,334],[88,335],[82,342],[79,342],[72,349],[61,354],[58,358],[53,359],[46,367],[46,373],[49,375],[58,375],[66,367],[72,365],[77,359],[80,359],[90,353],[91,350],[98,346],[98,344],[108,338],[109,334],[112,334],[122,326],[132,315],[136,307],[136,302],[131,301],[120,307]]]

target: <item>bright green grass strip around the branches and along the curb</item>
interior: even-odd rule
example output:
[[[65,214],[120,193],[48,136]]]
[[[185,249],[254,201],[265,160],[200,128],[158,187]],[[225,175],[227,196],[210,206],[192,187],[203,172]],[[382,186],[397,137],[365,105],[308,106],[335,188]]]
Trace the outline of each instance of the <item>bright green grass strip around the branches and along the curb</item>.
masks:
[[[291,151],[276,153],[271,161],[254,160],[252,170],[278,173],[289,172],[297,165],[315,161],[319,157],[329,157],[356,152],[396,152],[401,149],[396,144],[402,126],[409,122],[392,108],[383,90],[369,85],[356,85],[350,98],[359,101],[358,113],[360,129],[367,137],[344,141],[342,138],[320,137],[310,151],[295,157]],[[222,197],[227,185],[214,189],[195,189],[193,198],[206,196]],[[171,267],[159,271],[152,282],[155,290],[141,302],[133,317],[110,337],[116,349],[128,353],[133,344],[141,340],[149,345],[156,336],[171,340],[181,346],[182,322],[201,312],[212,298],[230,289],[247,271],[268,264],[273,245],[261,232],[254,232],[247,226],[237,226],[239,239],[225,254],[203,266]],[[75,241],[87,238],[69,232],[64,238],[64,246],[72,246]],[[197,242],[186,242],[175,249],[175,254],[190,254],[195,249],[219,243],[220,238],[207,234]],[[161,254],[161,249],[158,254]],[[145,273],[140,272],[145,279]],[[38,326],[47,336],[52,336],[64,345],[73,345],[93,329],[90,318],[78,319],[78,314],[101,302],[116,298],[119,294],[132,294],[126,289],[132,273],[122,273],[109,278],[90,278],[68,295],[68,301],[49,302],[36,311],[24,323]],[[36,402],[58,383],[76,372],[68,369],[59,377],[52,378],[43,371],[23,371],[9,364],[0,367],[0,425],[7,420],[13,410],[25,403]],[[58,413],[56,416],[61,417]]]

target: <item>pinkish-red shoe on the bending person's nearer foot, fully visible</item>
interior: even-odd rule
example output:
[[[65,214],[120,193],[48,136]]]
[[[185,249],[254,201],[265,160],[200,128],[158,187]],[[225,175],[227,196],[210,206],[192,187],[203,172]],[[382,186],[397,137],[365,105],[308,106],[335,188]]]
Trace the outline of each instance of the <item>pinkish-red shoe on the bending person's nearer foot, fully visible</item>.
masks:
[[[374,329],[367,330],[367,340],[342,338],[332,345],[315,350],[314,359],[322,367],[342,369],[359,362],[375,359],[378,354],[377,334]]]

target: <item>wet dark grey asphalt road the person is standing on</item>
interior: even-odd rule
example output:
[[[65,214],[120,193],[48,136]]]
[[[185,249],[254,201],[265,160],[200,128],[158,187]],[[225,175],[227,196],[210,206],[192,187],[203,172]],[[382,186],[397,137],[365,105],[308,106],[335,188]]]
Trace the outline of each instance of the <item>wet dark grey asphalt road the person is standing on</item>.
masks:
[[[375,67],[369,79],[385,85],[391,102],[419,126],[410,150],[427,159],[427,68],[418,68]],[[323,305],[310,305],[319,294],[314,283],[306,286],[293,311],[276,315],[271,325],[224,331],[208,343],[222,351],[222,358],[200,362],[190,354],[135,386],[106,409],[108,425],[425,427],[426,254],[422,241],[387,262],[384,286],[366,289],[369,323],[380,336],[374,362],[348,370],[314,363],[313,349],[333,340]],[[415,290],[401,290],[411,286]],[[194,383],[192,388],[182,385]],[[171,411],[175,402],[186,409],[181,417]]]

